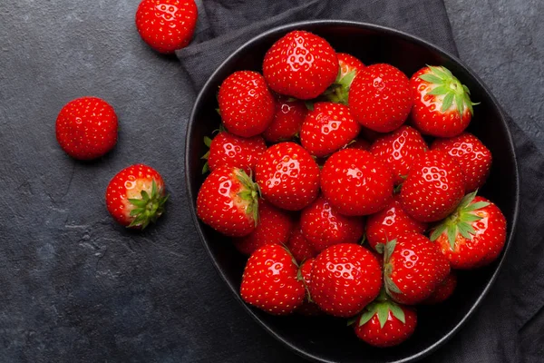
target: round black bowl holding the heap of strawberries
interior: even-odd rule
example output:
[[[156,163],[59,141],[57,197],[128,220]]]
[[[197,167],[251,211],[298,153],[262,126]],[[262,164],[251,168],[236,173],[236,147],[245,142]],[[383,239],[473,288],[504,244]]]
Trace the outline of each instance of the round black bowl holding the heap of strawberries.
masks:
[[[469,128],[493,154],[491,176],[481,194],[497,203],[508,221],[508,240],[500,259],[481,270],[460,273],[459,286],[452,299],[439,307],[419,309],[416,332],[409,344],[396,348],[371,348],[355,337],[345,320],[333,318],[306,319],[297,316],[274,317],[246,305],[238,289],[245,259],[229,240],[198,221],[195,211],[199,186],[204,180],[200,157],[206,152],[204,136],[217,129],[220,119],[216,93],[219,84],[238,70],[261,72],[267,49],[289,31],[303,29],[319,34],[337,52],[354,54],[364,64],[389,63],[408,76],[424,64],[442,64],[471,89],[471,98],[480,104]],[[509,249],[518,216],[519,178],[516,154],[502,112],[488,88],[451,54],[422,39],[377,25],[344,21],[312,21],[285,25],[250,40],[219,66],[204,86],[192,110],[185,150],[185,168],[190,209],[200,240],[219,274],[248,314],[272,336],[299,355],[319,362],[412,362],[432,352],[461,329],[474,313],[495,280]],[[447,312],[447,313],[446,313]]]

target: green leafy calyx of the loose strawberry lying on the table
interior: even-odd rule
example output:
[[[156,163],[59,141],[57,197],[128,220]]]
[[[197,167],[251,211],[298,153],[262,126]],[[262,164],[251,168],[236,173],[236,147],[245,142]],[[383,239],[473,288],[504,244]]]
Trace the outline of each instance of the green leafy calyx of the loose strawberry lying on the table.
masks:
[[[162,188],[157,188],[157,183],[153,179],[151,195],[147,191],[141,191],[141,199],[128,200],[136,207],[131,211],[131,217],[134,219],[128,227],[141,227],[144,230],[151,222],[156,222],[164,211],[164,204],[169,197],[170,195],[164,195]]]

